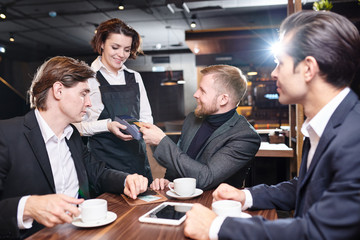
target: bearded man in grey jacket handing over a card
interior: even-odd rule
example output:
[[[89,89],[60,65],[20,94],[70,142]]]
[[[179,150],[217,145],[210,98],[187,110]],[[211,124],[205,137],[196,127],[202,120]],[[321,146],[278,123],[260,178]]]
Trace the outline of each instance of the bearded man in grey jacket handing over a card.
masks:
[[[194,94],[198,105],[186,117],[177,145],[155,125],[140,129],[145,142],[157,146],[154,158],[166,168],[165,177],[152,182],[155,190],[181,177],[195,178],[196,187],[204,190],[223,182],[241,187],[260,147],[255,129],[236,112],[247,87],[241,70],[213,65],[201,74]]]

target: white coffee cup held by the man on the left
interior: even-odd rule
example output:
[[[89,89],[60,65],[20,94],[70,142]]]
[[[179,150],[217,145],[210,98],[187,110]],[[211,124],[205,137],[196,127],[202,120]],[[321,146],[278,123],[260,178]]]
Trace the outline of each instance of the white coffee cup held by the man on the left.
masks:
[[[98,222],[106,219],[107,201],[105,199],[89,199],[79,205],[80,218],[84,223]]]

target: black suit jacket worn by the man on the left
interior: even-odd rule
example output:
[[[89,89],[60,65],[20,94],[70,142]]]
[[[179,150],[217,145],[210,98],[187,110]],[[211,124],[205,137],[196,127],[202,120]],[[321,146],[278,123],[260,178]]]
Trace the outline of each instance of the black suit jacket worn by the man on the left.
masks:
[[[79,132],[67,141],[74,160],[80,192],[90,198],[102,192],[122,193],[126,173],[105,168],[84,146]],[[23,238],[30,230],[17,227],[17,207],[26,195],[54,194],[55,184],[45,143],[32,110],[23,117],[0,121],[0,239]]]

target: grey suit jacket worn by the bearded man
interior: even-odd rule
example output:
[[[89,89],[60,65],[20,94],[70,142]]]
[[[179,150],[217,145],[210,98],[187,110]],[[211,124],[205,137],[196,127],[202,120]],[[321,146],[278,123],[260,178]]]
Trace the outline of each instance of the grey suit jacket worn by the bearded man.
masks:
[[[197,179],[197,187],[205,190],[226,181],[241,186],[249,161],[260,147],[259,135],[243,116],[235,113],[192,159],[186,152],[202,121],[190,113],[184,121],[178,145],[165,137],[157,146],[154,157],[167,169],[165,178],[193,177]]]

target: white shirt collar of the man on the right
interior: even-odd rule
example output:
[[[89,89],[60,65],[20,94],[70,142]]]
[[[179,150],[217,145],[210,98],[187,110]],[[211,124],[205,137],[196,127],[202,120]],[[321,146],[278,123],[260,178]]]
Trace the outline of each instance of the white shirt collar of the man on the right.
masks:
[[[301,132],[305,137],[309,137],[309,127],[311,127],[316,135],[321,138],[324,129],[335,112],[336,108],[344,100],[346,95],[350,92],[350,88],[344,88],[338,95],[336,95],[330,102],[328,102],[312,119],[306,119],[301,127]]]

